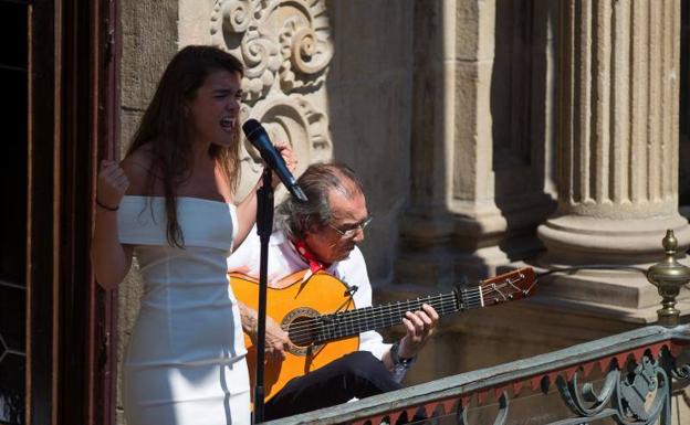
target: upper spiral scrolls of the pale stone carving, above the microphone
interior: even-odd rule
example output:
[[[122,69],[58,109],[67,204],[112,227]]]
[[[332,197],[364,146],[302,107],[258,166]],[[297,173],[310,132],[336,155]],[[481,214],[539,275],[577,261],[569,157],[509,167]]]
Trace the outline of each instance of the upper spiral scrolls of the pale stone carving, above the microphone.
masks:
[[[240,53],[250,103],[276,79],[283,92],[325,82],[333,42],[323,0],[217,0],[210,30],[213,45]]]

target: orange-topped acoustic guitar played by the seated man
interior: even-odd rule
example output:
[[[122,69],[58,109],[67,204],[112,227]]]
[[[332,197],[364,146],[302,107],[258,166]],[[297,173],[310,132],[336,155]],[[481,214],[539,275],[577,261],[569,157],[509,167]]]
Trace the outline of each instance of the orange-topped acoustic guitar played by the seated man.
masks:
[[[324,272],[303,279],[305,272],[288,276],[288,286],[281,289],[268,288],[266,291],[266,314],[288,332],[291,341],[285,350],[284,361],[265,363],[266,402],[291,379],[357,351],[360,332],[399,325],[406,311],[420,310],[422,304],[433,307],[439,316],[446,316],[526,297],[534,291],[536,285],[534,270],[524,267],[483,280],[478,286],[457,288],[448,294],[355,308],[353,288]],[[230,274],[230,285],[240,301],[250,308],[258,308],[257,279],[233,273]],[[247,334],[244,343],[253,387],[257,353]]]

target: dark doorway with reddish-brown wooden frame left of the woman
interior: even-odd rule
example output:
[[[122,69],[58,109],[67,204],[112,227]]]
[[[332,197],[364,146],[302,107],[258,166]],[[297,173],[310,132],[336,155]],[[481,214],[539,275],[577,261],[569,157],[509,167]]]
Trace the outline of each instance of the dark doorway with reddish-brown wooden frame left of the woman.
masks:
[[[0,425],[114,423],[115,295],[88,245],[118,129],[116,11],[0,0]]]

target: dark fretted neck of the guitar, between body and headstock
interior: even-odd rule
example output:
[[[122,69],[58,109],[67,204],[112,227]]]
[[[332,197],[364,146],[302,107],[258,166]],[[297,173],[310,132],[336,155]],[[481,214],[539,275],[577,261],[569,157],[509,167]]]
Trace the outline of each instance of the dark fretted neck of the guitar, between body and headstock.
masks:
[[[461,289],[459,293],[438,294],[376,307],[342,311],[320,317],[318,342],[352,337],[368,330],[400,325],[406,311],[421,310],[421,305],[433,307],[439,316],[483,306],[480,287]]]

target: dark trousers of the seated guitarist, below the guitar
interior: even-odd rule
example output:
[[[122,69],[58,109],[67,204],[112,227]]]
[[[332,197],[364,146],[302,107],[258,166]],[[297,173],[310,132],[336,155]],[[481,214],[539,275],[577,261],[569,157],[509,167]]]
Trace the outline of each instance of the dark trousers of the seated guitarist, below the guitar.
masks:
[[[265,404],[264,419],[315,411],[400,387],[380,360],[368,351],[356,351],[290,380]]]

